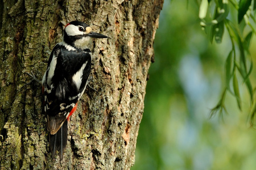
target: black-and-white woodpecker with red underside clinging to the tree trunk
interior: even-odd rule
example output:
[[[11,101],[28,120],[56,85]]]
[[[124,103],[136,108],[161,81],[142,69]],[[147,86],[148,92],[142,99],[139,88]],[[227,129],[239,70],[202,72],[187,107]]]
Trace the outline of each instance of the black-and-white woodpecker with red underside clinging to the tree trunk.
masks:
[[[92,38],[108,37],[92,32],[92,28],[83,22],[70,22],[65,26],[63,41],[55,45],[49,57],[42,87],[52,159],[56,151],[60,160],[63,159],[68,140],[68,120],[76,111],[90,74],[92,52],[89,44]]]

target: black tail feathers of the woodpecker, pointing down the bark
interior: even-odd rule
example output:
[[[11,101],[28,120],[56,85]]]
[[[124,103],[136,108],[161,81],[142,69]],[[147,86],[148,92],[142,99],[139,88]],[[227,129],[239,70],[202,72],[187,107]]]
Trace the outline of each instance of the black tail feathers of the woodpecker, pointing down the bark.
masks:
[[[52,152],[52,159],[56,155],[56,151],[59,152],[60,160],[63,159],[63,152],[68,142],[68,121],[65,120],[64,124],[57,131],[56,134],[49,135],[49,143]]]

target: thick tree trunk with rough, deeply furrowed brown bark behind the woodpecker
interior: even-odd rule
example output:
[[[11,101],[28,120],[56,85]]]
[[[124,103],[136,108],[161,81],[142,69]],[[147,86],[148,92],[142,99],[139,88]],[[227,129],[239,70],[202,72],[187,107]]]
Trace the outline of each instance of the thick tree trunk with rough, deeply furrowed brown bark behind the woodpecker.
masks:
[[[163,0],[0,1],[1,169],[129,169]],[[42,79],[65,24],[81,20],[95,40],[89,86],[69,122],[64,160],[51,160]],[[28,84],[29,83],[29,84]]]

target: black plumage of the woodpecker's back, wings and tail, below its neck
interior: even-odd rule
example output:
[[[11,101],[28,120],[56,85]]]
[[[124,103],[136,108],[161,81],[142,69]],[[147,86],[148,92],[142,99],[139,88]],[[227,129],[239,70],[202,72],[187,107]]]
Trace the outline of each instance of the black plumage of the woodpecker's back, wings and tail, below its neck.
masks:
[[[62,46],[61,44],[57,44],[55,48],[53,48],[48,66],[51,65],[53,57],[57,58],[56,66],[51,78],[51,84],[45,83],[44,85],[46,89],[44,95],[47,99],[45,105],[47,105],[48,108],[46,108],[47,129],[51,133],[49,139],[52,156],[54,158],[56,151],[58,151],[61,159],[63,158],[63,151],[67,145],[68,121],[66,119],[84,92],[91,66],[91,57],[88,51],[84,52],[80,49],[69,51],[62,48]],[[73,75],[75,75],[84,64],[86,64],[86,66],[81,74],[81,85],[77,88],[73,80]],[[45,82],[47,82],[47,80],[48,72],[46,72]],[[47,89],[50,89],[51,92],[48,93]],[[60,106],[63,107],[61,111]]]

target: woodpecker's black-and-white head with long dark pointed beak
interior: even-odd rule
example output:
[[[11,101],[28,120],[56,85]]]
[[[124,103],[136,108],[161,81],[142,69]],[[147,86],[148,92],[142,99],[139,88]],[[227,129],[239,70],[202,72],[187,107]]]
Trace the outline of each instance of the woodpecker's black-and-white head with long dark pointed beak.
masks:
[[[108,38],[100,33],[92,32],[92,28],[79,21],[72,21],[65,26],[63,40],[79,49],[88,49],[90,39]]]

